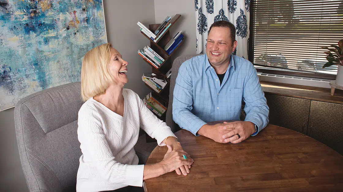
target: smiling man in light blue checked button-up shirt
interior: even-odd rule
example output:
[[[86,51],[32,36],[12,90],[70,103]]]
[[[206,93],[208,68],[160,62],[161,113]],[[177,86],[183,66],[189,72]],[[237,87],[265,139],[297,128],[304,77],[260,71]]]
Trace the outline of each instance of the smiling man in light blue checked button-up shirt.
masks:
[[[239,143],[268,124],[269,107],[252,63],[232,55],[236,28],[226,21],[209,29],[206,54],[179,68],[173,99],[173,120],[196,136],[220,143]],[[246,118],[238,121],[242,101]],[[237,120],[208,125],[206,122]]]

